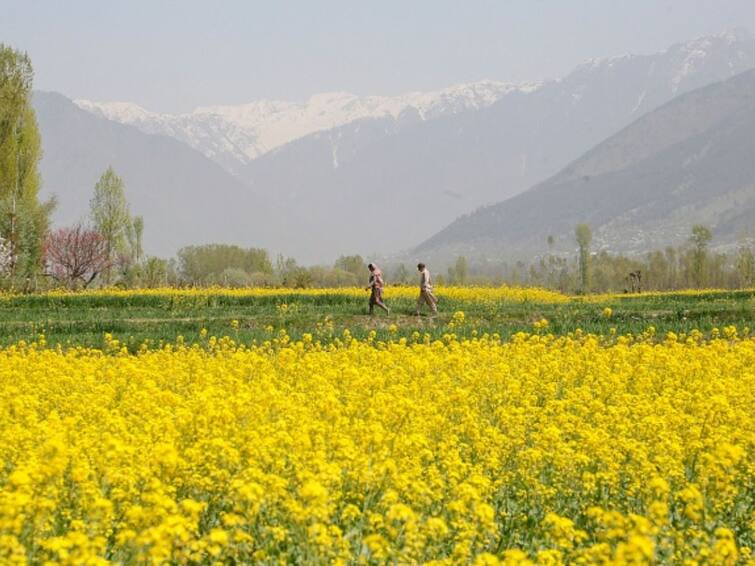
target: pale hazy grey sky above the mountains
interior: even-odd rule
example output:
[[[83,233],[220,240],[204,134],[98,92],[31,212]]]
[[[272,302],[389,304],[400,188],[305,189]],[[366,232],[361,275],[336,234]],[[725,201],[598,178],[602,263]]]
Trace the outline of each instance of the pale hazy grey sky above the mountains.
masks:
[[[170,112],[540,80],[732,27],[755,0],[0,0],[36,88]]]

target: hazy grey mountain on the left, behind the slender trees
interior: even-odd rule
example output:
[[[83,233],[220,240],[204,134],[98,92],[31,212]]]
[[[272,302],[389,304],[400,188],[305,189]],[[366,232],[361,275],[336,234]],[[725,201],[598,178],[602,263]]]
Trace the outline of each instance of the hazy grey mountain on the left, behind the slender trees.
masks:
[[[144,216],[149,253],[172,255],[208,241],[270,243],[264,200],[198,151],[94,116],[59,94],[35,93],[34,108],[43,193],[58,198],[56,224],[86,216],[97,179],[112,165],[132,213]]]

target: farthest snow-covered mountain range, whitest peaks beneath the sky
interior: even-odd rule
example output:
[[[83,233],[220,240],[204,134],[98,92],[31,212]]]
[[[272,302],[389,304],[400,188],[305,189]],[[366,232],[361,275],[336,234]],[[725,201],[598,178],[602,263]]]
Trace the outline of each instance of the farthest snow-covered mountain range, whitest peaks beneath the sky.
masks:
[[[75,102],[84,110],[145,133],[183,141],[236,172],[240,165],[314,132],[368,118],[397,119],[407,111],[428,120],[477,110],[505,94],[532,92],[538,86],[481,81],[394,97],[329,92],[316,94],[306,102],[258,100],[235,106],[200,107],[186,114],[150,112],[130,102]]]

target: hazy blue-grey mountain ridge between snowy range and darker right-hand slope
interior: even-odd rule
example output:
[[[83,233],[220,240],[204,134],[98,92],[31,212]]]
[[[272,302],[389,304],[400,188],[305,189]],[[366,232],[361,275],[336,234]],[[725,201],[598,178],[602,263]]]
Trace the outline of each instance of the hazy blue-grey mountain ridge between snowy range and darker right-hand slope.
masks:
[[[319,132],[239,176],[307,226],[302,257],[405,249],[543,181],[675,96],[753,67],[744,32],[591,61],[474,111],[422,120],[408,110]]]

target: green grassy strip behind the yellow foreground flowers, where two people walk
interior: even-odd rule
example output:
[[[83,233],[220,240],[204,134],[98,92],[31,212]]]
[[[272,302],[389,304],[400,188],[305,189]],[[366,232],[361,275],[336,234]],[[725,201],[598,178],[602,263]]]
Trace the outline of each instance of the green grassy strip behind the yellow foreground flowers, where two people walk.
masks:
[[[148,264],[149,260],[145,262]],[[167,265],[163,264],[164,267]],[[413,316],[415,299],[396,297],[386,289],[391,314],[374,319],[364,316],[367,294],[301,296],[294,293],[276,296],[171,297],[168,295],[87,296],[25,295],[6,296],[0,300],[0,344],[18,340],[33,341],[44,333],[49,344],[101,346],[103,334],[111,332],[128,347],[138,349],[145,339],[158,346],[160,341],[174,341],[182,335],[187,341],[200,339],[206,328],[210,335],[227,335],[231,321],[240,322],[238,338],[247,342],[268,340],[285,328],[292,339],[316,330],[318,340],[343,338],[349,329],[356,338],[377,332],[377,340],[411,337],[416,331],[432,339],[442,339],[449,332],[448,323],[456,311],[465,313],[464,326],[453,332],[459,337],[500,335],[508,339],[517,332],[532,332],[533,323],[542,318],[549,322],[548,331],[567,334],[584,332],[609,335],[640,334],[652,326],[658,337],[666,332],[682,334],[692,329],[710,333],[736,325],[740,331],[755,328],[755,293],[732,291],[697,294],[623,295],[601,302],[575,299],[567,304],[490,303],[461,301],[441,297],[437,318]],[[296,314],[281,318],[279,305],[287,304]],[[612,316],[602,315],[610,307]],[[331,321],[328,324],[324,324]],[[327,330],[331,326],[332,329]],[[397,333],[389,330],[391,324]],[[272,326],[274,330],[266,330]]]

